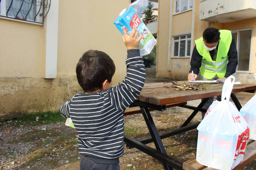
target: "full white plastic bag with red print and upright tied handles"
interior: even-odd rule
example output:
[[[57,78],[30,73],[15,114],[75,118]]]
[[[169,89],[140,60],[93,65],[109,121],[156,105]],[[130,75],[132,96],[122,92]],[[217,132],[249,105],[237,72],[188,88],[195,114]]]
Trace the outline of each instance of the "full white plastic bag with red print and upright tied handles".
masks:
[[[214,107],[197,127],[196,160],[220,170],[233,169],[243,160],[249,137],[248,124],[229,101],[234,82],[234,76],[227,78],[221,102],[214,102]]]

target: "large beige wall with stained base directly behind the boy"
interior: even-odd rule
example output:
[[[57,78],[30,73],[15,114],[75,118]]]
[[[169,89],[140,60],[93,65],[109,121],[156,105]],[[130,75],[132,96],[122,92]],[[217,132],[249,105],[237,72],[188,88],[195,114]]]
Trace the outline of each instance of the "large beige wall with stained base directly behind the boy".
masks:
[[[59,1],[57,78],[44,79],[46,25],[0,18],[0,120],[57,111],[81,92],[75,66],[89,49],[106,52],[116,65],[113,85],[126,74],[126,47],[113,21],[129,0]],[[50,9],[51,10],[51,9]],[[53,9],[52,9],[53,10]],[[68,12],[67,12],[68,11]]]

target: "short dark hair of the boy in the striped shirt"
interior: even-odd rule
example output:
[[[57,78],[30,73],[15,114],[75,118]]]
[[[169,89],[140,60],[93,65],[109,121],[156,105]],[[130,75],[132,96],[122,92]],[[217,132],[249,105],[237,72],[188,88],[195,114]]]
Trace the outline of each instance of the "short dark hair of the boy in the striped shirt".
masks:
[[[102,51],[86,51],[76,65],[76,78],[84,92],[91,93],[102,87],[107,79],[111,82],[116,71],[113,60]]]

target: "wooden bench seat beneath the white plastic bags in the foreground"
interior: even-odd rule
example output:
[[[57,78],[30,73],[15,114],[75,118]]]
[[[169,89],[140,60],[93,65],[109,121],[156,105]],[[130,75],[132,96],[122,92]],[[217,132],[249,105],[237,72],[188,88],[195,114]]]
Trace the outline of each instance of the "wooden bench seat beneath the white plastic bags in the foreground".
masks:
[[[248,142],[245,149],[244,160],[241,161],[233,170],[238,170],[256,159],[256,141]],[[188,160],[183,163],[184,170],[216,170],[214,168],[206,167],[196,161],[196,158]]]

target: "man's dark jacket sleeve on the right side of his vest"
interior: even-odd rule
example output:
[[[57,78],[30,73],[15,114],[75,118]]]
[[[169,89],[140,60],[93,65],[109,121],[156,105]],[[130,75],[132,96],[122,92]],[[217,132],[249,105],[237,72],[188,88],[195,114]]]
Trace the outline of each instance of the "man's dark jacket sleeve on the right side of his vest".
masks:
[[[238,64],[237,48],[236,48],[235,37],[233,34],[232,34],[232,41],[231,41],[227,55],[228,55],[228,63],[227,63],[227,70],[225,74],[226,78],[231,74],[233,74],[234,72],[236,72],[236,66]]]

